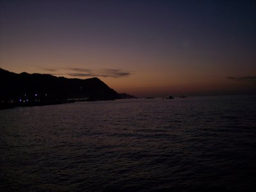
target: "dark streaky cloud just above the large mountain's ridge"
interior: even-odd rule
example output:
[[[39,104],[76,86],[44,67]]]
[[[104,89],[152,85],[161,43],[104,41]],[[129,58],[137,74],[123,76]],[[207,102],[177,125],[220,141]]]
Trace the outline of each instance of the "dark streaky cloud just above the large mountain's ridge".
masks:
[[[103,68],[100,70],[90,70],[88,68],[68,68],[73,72],[68,73],[68,76],[73,77],[127,77],[131,75],[131,72],[124,70],[118,70],[114,68]]]

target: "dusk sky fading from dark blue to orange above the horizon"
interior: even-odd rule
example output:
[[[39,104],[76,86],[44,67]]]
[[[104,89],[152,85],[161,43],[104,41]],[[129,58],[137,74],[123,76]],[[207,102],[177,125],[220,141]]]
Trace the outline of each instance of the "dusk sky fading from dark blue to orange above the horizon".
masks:
[[[256,92],[256,0],[0,0],[0,68],[137,97]]]

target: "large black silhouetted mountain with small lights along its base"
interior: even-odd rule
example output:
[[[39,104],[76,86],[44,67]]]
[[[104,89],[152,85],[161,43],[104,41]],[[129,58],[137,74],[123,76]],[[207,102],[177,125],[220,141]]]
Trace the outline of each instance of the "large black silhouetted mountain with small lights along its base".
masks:
[[[100,79],[68,79],[48,74],[15,74],[0,68],[0,101],[20,104],[54,104],[67,99],[120,99]]]

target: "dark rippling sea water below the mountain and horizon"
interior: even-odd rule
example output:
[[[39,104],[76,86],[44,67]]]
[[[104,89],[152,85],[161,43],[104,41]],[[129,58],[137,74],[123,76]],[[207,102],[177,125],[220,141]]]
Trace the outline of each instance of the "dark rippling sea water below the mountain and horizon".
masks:
[[[253,191],[256,97],[0,111],[0,191]]]

